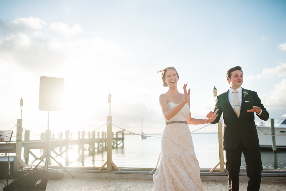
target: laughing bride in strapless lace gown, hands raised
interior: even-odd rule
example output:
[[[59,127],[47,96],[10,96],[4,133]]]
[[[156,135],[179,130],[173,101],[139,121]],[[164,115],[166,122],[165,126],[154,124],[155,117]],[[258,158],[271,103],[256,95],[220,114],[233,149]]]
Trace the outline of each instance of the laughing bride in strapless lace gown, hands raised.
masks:
[[[188,124],[213,122],[218,110],[207,120],[192,118],[190,89],[187,92],[187,84],[184,84],[184,93],[178,91],[176,69],[167,67],[158,72],[163,72],[163,86],[169,90],[159,97],[166,126],[161,139],[161,162],[153,175],[153,191],[204,190]]]

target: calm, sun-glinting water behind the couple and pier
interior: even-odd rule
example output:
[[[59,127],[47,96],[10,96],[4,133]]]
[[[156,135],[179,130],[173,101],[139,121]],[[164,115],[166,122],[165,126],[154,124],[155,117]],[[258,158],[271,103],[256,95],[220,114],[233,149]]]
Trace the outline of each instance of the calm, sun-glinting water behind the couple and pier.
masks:
[[[149,136],[161,136],[149,135]],[[141,140],[139,135],[124,135],[124,147],[119,145],[118,148],[112,149],[112,161],[118,167],[132,168],[155,168],[158,156],[161,151],[161,138],[148,137]],[[192,133],[192,140],[196,157],[200,164],[200,168],[212,168],[219,162],[219,144],[217,133]],[[41,156],[40,150],[31,150],[36,156]],[[56,150],[59,152],[59,150]],[[69,166],[92,166],[100,167],[106,162],[106,150],[95,150],[84,152],[84,158],[79,156],[77,148],[69,151]],[[23,152],[22,152],[23,153]],[[53,152],[52,156],[55,156]],[[63,154],[64,156],[65,154]],[[276,156],[275,156],[276,155]],[[286,151],[278,151],[273,154],[271,150],[261,150],[262,164],[264,169],[286,169]],[[225,154],[224,154],[225,156]],[[22,157],[23,158],[23,157]],[[65,158],[57,156],[58,162],[65,165]],[[36,165],[39,162],[33,161],[33,157],[29,156],[29,165]],[[44,164],[43,162],[41,164]],[[52,165],[57,165],[51,159]],[[218,167],[219,168],[219,167]],[[241,168],[246,168],[245,159],[242,154]]]

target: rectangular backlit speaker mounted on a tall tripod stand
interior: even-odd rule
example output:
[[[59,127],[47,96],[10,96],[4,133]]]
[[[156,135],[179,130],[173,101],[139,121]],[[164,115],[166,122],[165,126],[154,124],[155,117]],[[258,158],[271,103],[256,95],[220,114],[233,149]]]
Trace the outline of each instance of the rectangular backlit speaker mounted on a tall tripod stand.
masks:
[[[65,80],[58,77],[40,77],[39,110],[62,111]]]

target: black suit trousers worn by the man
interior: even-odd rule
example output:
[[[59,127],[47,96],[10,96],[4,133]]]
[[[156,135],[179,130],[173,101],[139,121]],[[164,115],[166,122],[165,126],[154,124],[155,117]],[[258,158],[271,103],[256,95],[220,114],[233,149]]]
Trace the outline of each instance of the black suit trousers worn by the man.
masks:
[[[237,149],[225,151],[225,166],[228,174],[229,190],[239,190],[241,152],[244,154],[247,177],[249,178],[247,191],[259,191],[262,172],[260,149],[248,150],[243,146],[241,141]]]

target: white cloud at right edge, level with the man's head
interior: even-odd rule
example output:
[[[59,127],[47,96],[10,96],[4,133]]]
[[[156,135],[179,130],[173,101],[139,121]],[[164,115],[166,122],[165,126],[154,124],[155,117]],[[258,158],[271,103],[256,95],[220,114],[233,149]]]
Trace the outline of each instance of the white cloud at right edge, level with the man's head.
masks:
[[[281,63],[277,65],[275,68],[264,68],[262,70],[261,75],[257,75],[257,77],[260,79],[263,78],[270,78],[270,77],[284,77],[286,76],[286,63]]]

